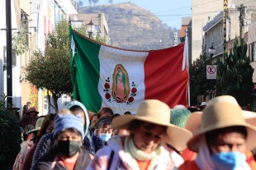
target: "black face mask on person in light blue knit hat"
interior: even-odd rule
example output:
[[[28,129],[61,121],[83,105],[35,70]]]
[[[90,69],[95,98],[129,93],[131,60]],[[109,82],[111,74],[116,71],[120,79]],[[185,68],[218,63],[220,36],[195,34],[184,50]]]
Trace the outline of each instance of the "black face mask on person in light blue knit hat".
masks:
[[[73,157],[80,150],[80,141],[72,140],[59,140],[58,141],[58,151],[59,154],[63,154],[65,157]]]

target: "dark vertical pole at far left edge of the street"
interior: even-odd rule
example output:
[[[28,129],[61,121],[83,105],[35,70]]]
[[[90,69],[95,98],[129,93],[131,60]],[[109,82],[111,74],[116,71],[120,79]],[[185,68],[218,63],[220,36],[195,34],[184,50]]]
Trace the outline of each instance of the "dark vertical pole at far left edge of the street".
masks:
[[[6,0],[6,34],[7,34],[7,104],[12,106],[12,0]]]

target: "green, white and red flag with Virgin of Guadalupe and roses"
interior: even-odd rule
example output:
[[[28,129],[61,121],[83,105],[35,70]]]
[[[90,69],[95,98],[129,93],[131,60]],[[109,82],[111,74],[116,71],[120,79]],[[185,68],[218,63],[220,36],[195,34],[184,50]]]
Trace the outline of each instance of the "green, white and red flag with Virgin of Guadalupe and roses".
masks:
[[[73,99],[97,113],[135,113],[144,99],[159,99],[170,108],[187,106],[188,71],[184,44],[135,51],[99,44],[70,28]]]

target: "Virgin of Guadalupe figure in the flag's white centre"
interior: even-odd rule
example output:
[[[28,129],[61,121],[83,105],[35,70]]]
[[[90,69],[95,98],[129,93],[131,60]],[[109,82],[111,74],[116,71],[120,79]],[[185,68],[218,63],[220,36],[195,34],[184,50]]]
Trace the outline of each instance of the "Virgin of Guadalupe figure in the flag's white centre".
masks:
[[[128,74],[121,64],[116,65],[113,73],[112,96],[117,103],[125,103],[130,92]]]

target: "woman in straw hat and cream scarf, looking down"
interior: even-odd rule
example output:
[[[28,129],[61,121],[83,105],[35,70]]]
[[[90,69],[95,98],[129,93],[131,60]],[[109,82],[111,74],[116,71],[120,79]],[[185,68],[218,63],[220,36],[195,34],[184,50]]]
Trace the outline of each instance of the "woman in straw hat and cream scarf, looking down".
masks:
[[[87,170],[126,169],[151,170],[174,169],[183,163],[175,151],[168,152],[165,142],[173,148],[186,148],[192,133],[169,123],[170,108],[159,100],[140,103],[135,116],[116,117],[113,129],[128,129],[129,136],[116,136],[100,149]]]

